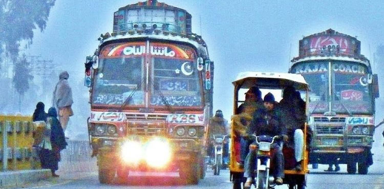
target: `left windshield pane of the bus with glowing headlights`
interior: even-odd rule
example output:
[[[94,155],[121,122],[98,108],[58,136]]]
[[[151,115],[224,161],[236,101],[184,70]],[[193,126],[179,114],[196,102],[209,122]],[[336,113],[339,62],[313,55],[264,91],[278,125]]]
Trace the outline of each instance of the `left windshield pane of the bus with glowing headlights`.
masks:
[[[144,104],[145,69],[140,45],[113,44],[102,49],[93,84],[93,104]]]

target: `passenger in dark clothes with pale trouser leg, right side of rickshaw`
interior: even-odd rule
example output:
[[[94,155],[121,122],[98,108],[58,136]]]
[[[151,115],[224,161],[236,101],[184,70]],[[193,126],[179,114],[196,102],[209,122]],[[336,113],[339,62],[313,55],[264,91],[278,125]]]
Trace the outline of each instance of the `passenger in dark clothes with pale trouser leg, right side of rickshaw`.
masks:
[[[293,104],[293,106],[292,106]],[[306,122],[305,102],[300,97],[300,92],[295,91],[292,86],[288,86],[283,91],[283,99],[279,103],[279,109],[282,112],[282,120],[286,126],[289,148],[295,152],[295,169],[303,170],[301,162],[304,159],[304,132],[303,128]]]

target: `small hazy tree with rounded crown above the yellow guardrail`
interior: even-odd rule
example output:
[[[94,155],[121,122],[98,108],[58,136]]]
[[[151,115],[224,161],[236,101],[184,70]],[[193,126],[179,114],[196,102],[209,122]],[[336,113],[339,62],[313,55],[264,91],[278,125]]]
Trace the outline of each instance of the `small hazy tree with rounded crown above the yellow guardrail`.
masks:
[[[29,82],[33,79],[31,70],[29,69],[30,62],[27,61],[25,55],[19,58],[14,66],[14,76],[12,83],[17,93],[19,94],[18,111],[21,112],[22,96],[29,89]]]

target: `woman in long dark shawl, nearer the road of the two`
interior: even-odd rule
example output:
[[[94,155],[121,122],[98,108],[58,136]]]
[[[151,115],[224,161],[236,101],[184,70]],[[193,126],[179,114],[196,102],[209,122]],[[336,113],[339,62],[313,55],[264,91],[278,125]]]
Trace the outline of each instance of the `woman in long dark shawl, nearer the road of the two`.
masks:
[[[58,162],[60,161],[60,151],[66,149],[67,142],[64,136],[64,131],[61,128],[61,124],[57,119],[57,112],[54,107],[48,110],[48,119],[47,124],[51,127],[51,145],[52,145],[52,155],[51,161],[52,164],[49,169],[51,169],[52,176],[58,177],[55,174],[55,171],[58,170]]]

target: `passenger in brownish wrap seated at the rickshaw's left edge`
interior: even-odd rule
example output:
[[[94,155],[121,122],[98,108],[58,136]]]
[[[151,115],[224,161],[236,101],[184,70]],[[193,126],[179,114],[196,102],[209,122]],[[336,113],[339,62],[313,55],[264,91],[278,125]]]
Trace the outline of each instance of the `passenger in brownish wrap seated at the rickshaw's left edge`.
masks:
[[[236,122],[233,128],[237,136],[240,137],[240,166],[244,166],[245,157],[248,154],[248,146],[250,142],[245,138],[246,131],[252,120],[252,115],[255,111],[263,107],[263,99],[261,98],[261,91],[258,87],[251,87],[245,93],[245,102],[238,108],[238,115],[232,116],[232,120]]]

